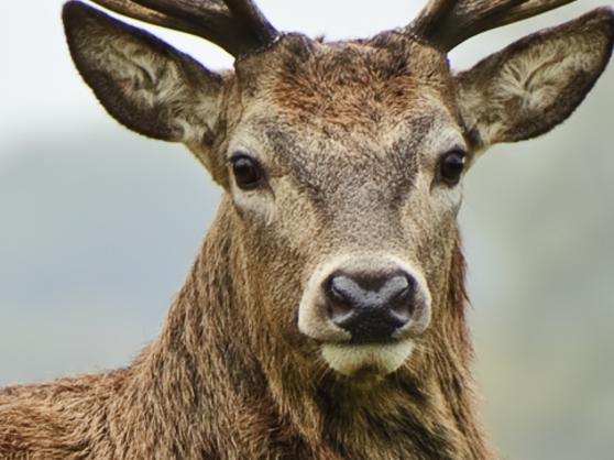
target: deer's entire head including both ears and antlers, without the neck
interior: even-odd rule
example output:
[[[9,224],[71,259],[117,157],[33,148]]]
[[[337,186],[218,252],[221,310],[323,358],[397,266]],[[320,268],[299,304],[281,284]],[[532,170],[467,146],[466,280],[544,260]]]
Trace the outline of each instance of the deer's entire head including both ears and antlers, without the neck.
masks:
[[[464,175],[490,145],[563,121],[614,36],[613,12],[597,9],[454,73],[447,53],[465,39],[568,1],[432,0],[405,29],[331,43],[278,33],[249,0],[96,2],[237,57],[213,73],[83,3],[64,9],[73,58],[109,113],[186,144],[223,187],[249,274],[245,340],[340,379],[417,369],[461,335]]]

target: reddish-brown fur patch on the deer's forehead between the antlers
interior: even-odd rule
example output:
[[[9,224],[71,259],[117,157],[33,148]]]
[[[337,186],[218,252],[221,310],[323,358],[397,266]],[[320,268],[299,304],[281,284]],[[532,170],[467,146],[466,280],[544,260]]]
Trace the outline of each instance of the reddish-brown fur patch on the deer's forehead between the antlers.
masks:
[[[382,120],[423,114],[428,99],[457,111],[446,56],[394,34],[335,43],[287,35],[237,68],[244,92],[294,123],[373,129]]]

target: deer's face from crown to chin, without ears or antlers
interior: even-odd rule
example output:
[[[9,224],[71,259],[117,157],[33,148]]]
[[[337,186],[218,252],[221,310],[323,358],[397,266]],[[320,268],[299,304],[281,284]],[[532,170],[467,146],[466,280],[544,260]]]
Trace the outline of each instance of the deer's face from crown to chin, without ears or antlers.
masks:
[[[470,155],[445,57],[396,47],[288,36],[240,63],[224,152],[253,295],[349,375],[394,371],[428,328]]]

